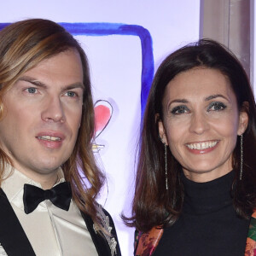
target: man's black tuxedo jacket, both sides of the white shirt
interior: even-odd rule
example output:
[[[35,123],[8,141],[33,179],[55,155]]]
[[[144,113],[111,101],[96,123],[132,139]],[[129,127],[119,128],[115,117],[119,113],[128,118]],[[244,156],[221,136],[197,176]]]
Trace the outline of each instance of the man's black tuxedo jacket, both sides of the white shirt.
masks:
[[[112,235],[118,242],[116,230],[114,229],[113,219],[108,212],[103,210],[109,217],[109,224],[113,227]],[[92,241],[95,244],[96,251],[100,256],[111,256],[111,251],[106,239],[96,234],[93,230],[93,222],[87,214],[82,213],[85,224],[90,232]],[[18,218],[15,215],[15,211],[11,207],[3,189],[0,189],[0,243],[9,256],[35,256],[32,249],[32,245],[28,241],[25,231],[22,229]],[[117,244],[116,251],[118,256],[121,255],[119,243]],[[86,252],[84,252],[86,255]]]

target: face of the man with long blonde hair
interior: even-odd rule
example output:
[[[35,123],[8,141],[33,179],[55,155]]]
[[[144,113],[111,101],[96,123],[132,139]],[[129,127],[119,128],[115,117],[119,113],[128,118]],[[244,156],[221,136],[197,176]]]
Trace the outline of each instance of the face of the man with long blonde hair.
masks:
[[[72,154],[83,105],[79,53],[67,50],[24,73],[3,96],[0,143],[14,166],[39,180]]]

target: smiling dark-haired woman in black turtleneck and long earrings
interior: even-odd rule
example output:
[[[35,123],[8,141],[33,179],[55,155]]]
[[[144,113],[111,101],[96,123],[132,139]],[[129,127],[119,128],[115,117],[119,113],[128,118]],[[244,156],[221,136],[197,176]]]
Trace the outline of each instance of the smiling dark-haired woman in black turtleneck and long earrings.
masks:
[[[135,255],[244,255],[255,119],[247,75],[224,46],[203,39],[162,62],[143,120]]]

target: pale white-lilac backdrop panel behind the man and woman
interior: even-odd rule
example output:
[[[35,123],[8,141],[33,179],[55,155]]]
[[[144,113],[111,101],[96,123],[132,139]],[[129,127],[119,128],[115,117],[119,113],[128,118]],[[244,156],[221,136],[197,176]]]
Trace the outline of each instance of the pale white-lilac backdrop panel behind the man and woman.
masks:
[[[1,1],[0,22],[46,18],[56,22],[108,22],[143,26],[153,40],[154,68],[174,49],[198,40],[200,0],[9,0]],[[141,118],[142,49],[136,36],[76,36],[90,61],[94,99],[107,100],[113,116],[96,138],[97,158],[108,177],[99,201],[111,212],[123,255],[132,255],[133,229],[119,214],[129,212],[135,149]],[[108,193],[107,193],[108,190]],[[108,195],[108,197],[107,197]]]

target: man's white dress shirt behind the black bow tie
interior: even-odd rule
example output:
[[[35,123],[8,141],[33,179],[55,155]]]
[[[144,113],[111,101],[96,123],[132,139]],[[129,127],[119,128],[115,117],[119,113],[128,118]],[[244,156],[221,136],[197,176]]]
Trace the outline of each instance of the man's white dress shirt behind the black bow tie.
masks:
[[[8,175],[11,170],[11,166],[8,166],[5,175]],[[65,179],[61,168],[59,174],[61,178],[58,183],[62,183]],[[15,169],[13,174],[3,181],[1,188],[37,256],[98,255],[84,218],[73,200],[68,211],[55,207],[51,201],[46,200],[41,202],[33,212],[26,214],[23,206],[25,183],[42,188],[39,183]],[[4,253],[0,245],[0,255],[7,255]]]

